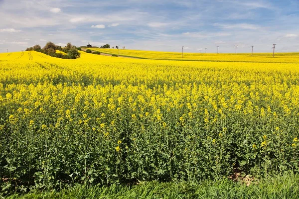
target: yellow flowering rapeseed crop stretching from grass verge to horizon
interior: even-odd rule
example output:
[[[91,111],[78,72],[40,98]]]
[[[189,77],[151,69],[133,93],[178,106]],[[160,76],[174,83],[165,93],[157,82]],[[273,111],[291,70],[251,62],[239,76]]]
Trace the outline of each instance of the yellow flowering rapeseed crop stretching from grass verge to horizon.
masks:
[[[0,189],[299,171],[298,54],[196,56],[1,53]]]

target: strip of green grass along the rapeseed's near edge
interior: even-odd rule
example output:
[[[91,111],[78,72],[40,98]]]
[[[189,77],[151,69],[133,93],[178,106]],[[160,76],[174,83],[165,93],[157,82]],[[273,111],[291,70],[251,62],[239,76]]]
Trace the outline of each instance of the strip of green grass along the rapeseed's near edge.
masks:
[[[268,177],[247,186],[229,179],[218,181],[147,182],[129,186],[77,185],[67,190],[31,191],[25,195],[11,195],[7,199],[298,199],[299,175]],[[1,197],[0,197],[1,198]]]

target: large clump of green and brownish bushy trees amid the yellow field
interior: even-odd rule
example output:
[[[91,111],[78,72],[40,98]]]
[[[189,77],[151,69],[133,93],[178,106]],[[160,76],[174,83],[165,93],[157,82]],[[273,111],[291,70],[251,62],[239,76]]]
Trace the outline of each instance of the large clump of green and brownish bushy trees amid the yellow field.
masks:
[[[65,47],[61,47],[49,41],[46,43],[46,45],[43,48],[41,48],[40,45],[37,44],[26,49],[26,51],[30,51],[30,50],[34,50],[49,55],[51,57],[57,57],[62,59],[77,59],[81,55],[78,51],[81,49],[72,45],[70,42],[67,43]],[[66,53],[66,55],[62,53],[56,53],[56,50],[60,50]]]

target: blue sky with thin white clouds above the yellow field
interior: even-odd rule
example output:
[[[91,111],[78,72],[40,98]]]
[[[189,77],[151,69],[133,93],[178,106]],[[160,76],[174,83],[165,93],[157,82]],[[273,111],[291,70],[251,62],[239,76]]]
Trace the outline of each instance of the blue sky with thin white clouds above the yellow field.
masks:
[[[299,0],[0,0],[0,52],[47,41],[199,52],[299,51]],[[203,50],[205,51],[205,50]]]

